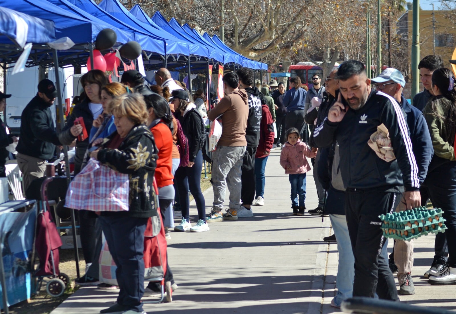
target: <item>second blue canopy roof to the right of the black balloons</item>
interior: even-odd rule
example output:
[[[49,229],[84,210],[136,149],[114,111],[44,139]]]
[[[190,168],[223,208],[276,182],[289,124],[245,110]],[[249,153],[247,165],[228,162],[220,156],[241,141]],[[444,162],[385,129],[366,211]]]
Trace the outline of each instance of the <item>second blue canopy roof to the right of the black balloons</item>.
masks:
[[[155,23],[146,24],[138,20],[133,14],[125,9],[125,7],[121,5],[118,0],[103,0],[98,6],[117,18],[119,21],[123,21],[125,24],[142,30],[145,33],[150,34],[152,37],[164,40],[166,43],[166,54],[189,55],[188,42],[180,41],[171,34],[166,33],[160,27],[156,26]]]

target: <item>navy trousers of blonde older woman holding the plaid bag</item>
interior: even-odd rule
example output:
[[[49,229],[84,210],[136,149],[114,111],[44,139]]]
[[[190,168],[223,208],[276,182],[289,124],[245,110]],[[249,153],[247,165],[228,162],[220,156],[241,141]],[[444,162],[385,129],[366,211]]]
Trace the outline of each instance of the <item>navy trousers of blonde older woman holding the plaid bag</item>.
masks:
[[[119,283],[117,303],[142,312],[144,294],[144,232],[149,218],[133,218],[109,213],[99,216]]]

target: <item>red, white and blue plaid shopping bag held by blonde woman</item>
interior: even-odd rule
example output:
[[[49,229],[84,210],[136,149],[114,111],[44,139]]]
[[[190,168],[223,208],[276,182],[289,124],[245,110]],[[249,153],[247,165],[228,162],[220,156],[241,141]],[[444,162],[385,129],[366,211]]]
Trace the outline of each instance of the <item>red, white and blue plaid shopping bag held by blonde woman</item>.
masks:
[[[68,186],[65,206],[88,211],[128,211],[129,177],[90,159]]]

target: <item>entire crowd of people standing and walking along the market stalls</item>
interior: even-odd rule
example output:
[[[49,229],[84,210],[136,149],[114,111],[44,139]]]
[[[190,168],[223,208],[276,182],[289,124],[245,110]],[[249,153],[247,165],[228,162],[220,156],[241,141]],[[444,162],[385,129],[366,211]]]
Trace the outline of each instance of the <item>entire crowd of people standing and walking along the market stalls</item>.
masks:
[[[394,68],[371,80],[363,63],[349,60],[330,72],[324,84],[313,75],[307,91],[299,77],[290,78],[289,90],[275,80],[258,85],[253,70],[243,67],[223,76],[225,96],[213,108],[203,89],[192,95],[166,68],[155,72],[157,85],[150,87],[135,70],[124,72],[120,83],[91,70],[82,76],[82,100],[60,132],[50,112],[56,88],[45,79],[22,113],[19,138],[0,132],[0,146],[17,142],[25,189],[45,175],[46,161],[59,145],[75,147],[74,175],[96,160],[128,178],[129,211],[78,211],[87,266],[76,283],[120,289],[117,303],[100,313],[145,313],[141,298],[159,291],[155,283],[143,284],[150,224],[161,221],[170,240],[169,229],[207,232],[214,222],[254,216],[252,206],[267,201],[264,172],[274,148],[281,149],[280,166],[289,176],[292,215],[307,211],[331,220],[334,235],[325,241],[337,241],[339,252],[331,305],[339,308],[352,296],[397,301],[394,273],[399,294],[415,293],[413,240],[395,241],[388,257],[382,214],[429,201],[442,208],[448,230],[437,234],[434,261],[425,276],[430,284],[456,284],[456,79],[438,56],[423,58],[419,69],[425,90],[410,104],[403,95],[405,79]],[[0,109],[8,97],[0,93]],[[222,134],[211,156],[213,201],[206,213],[200,182],[208,120],[219,120]],[[388,129],[393,160],[368,146],[380,124]],[[318,206],[307,210],[306,173],[312,168]],[[0,165],[0,175],[2,169]],[[193,226],[189,191],[198,215]],[[173,201],[181,209],[176,226]],[[117,266],[115,283],[98,278],[103,239]],[[166,269],[171,297],[178,287],[169,263]]]

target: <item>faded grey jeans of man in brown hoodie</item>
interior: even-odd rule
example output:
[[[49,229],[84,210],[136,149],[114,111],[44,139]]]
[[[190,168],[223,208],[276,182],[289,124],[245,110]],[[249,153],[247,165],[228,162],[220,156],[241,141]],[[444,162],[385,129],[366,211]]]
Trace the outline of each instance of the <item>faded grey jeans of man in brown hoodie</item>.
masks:
[[[212,153],[212,205],[223,209],[226,188],[229,190],[229,208],[238,209],[241,200],[241,166],[246,146],[217,146]]]

